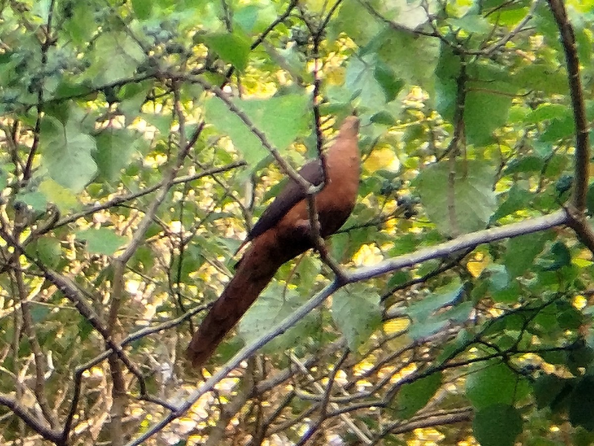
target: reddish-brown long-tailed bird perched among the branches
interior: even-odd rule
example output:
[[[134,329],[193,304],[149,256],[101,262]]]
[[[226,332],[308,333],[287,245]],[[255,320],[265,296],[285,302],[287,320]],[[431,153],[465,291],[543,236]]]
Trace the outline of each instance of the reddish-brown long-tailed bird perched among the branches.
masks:
[[[326,152],[326,169],[320,160],[299,170],[309,183],[326,183],[315,196],[322,237],[335,233],[349,218],[359,189],[357,133],[359,119],[346,118],[334,144]],[[247,236],[251,241],[239,260],[235,275],[194,333],[187,355],[195,367],[201,366],[223,337],[235,326],[274,277],[277,269],[293,257],[314,247],[306,195],[293,180],[283,189]]]

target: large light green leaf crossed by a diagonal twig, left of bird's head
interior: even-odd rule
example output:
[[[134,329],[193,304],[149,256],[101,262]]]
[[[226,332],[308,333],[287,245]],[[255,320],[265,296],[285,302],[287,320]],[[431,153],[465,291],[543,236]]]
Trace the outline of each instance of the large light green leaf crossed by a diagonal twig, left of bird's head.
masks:
[[[233,100],[249,120],[277,149],[285,150],[299,136],[309,133],[309,96],[285,95],[270,99]],[[258,164],[268,155],[260,140],[219,98],[206,102],[206,120],[229,135],[249,164]]]

